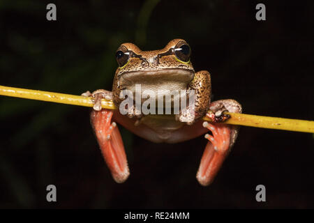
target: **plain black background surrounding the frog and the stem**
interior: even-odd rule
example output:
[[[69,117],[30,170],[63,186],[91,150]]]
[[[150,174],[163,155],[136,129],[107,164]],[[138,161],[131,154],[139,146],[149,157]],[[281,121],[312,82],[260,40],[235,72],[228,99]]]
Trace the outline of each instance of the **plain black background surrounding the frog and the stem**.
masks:
[[[57,21],[46,20],[47,3]],[[257,3],[266,21],[255,20]],[[214,100],[246,114],[313,120],[311,1],[0,2],[0,84],[80,95],[111,89],[121,43],[192,47]],[[90,109],[0,97],[0,208],[314,208],[313,134],[242,127],[214,183],[195,174],[207,143],[153,144],[121,129],[130,178],[112,180]],[[57,203],[46,186],[57,186]],[[255,201],[265,185],[267,202]]]

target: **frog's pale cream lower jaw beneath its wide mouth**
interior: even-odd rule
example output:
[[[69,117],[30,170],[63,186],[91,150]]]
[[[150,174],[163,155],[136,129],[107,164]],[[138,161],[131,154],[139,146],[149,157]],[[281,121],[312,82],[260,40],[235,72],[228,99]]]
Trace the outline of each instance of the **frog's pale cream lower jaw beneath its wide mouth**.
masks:
[[[135,84],[141,91],[186,90],[194,78],[194,70],[165,68],[160,70],[138,70],[119,75],[119,84],[135,92]]]

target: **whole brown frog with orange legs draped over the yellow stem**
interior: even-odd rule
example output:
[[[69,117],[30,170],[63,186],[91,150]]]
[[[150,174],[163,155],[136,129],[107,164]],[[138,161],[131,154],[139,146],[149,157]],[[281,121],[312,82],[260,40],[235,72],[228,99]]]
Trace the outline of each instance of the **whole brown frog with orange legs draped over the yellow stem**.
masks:
[[[211,102],[211,75],[207,70],[195,72],[190,55],[190,45],[183,39],[171,40],[163,49],[153,51],[142,51],[133,43],[123,43],[116,52],[118,68],[112,91],[98,89],[82,94],[91,97],[94,102],[91,125],[107,167],[117,183],[124,183],[130,176],[117,123],[154,143],[176,144],[204,135],[208,142],[196,174],[197,181],[203,186],[213,182],[230,153],[239,134],[239,126],[224,123],[230,118],[226,112],[241,113],[242,107],[232,99]],[[177,114],[173,111],[170,114],[144,114],[135,103],[135,91],[139,84],[140,93],[145,90],[170,90],[181,91],[187,97],[194,95],[193,106],[189,104]],[[129,100],[134,102],[133,105],[124,105],[124,91],[131,93]],[[120,109],[103,109],[103,98],[112,100]],[[156,105],[161,99],[155,100]],[[168,100],[168,105],[174,110],[174,97]],[[142,98],[140,102],[143,102]],[[155,109],[161,105],[165,102],[160,102]],[[121,112],[121,107],[124,112]],[[203,121],[205,116],[211,121]]]

